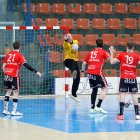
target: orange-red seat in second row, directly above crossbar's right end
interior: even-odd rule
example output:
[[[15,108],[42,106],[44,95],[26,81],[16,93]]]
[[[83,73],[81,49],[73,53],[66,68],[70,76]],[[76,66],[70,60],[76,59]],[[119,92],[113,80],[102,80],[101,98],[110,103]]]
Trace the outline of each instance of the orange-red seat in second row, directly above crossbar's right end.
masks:
[[[69,29],[74,29],[74,20],[72,18],[61,19],[61,26],[68,26]]]

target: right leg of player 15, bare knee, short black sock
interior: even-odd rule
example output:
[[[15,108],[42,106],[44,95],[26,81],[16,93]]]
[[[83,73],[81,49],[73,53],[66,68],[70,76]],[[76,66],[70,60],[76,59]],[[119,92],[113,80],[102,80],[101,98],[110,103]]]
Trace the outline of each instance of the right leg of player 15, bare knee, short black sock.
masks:
[[[101,112],[101,113],[105,113],[106,114],[107,111],[102,109],[101,105],[102,105],[102,102],[103,102],[103,100],[104,100],[104,98],[106,96],[107,90],[108,90],[108,88],[107,88],[107,81],[106,81],[104,76],[98,76],[97,81],[98,81],[99,87],[101,87],[101,93],[99,95],[98,103],[97,103],[97,105],[95,107],[95,110],[97,112]]]

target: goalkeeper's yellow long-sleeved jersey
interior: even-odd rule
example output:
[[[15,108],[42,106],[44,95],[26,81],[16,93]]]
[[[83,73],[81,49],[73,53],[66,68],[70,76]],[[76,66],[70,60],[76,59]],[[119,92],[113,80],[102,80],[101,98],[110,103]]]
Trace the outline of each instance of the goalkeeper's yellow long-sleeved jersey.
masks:
[[[77,44],[78,45],[78,41],[77,40],[73,40],[73,44]],[[64,52],[65,52],[64,60],[66,60],[66,59],[73,59],[75,61],[78,60],[78,51],[74,51],[72,49],[72,44],[64,41],[63,47],[64,47]]]

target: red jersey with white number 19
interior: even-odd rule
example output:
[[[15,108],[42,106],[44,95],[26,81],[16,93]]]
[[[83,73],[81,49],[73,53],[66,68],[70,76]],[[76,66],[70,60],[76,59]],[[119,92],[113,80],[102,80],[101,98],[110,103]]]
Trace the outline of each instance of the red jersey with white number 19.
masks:
[[[120,77],[135,79],[140,56],[134,52],[122,52],[116,58],[120,61]]]

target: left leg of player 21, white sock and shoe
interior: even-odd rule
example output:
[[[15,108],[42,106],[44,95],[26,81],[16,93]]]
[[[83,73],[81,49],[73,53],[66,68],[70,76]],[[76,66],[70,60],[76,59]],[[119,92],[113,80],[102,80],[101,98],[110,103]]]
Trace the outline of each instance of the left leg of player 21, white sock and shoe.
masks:
[[[12,80],[12,77],[9,77],[8,75],[4,75],[4,88],[6,89],[6,94],[4,97],[3,114],[5,115],[10,114],[10,112],[8,111],[8,106],[9,106],[10,95],[12,93],[11,80]]]

